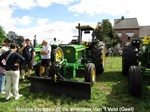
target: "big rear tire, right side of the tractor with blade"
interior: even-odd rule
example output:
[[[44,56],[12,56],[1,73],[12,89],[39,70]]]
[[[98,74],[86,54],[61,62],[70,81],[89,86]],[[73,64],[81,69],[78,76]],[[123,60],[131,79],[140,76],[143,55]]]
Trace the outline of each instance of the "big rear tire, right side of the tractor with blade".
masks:
[[[96,66],[96,73],[101,74],[104,72],[106,60],[106,48],[103,42],[93,45],[92,48],[92,63]]]

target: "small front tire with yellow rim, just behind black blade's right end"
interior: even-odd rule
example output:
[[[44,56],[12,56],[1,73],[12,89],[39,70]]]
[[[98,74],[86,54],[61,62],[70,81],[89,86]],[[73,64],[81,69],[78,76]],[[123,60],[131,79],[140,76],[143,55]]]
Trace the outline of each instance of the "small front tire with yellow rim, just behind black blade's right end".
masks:
[[[91,82],[91,86],[96,82],[96,68],[93,63],[88,63],[85,68],[85,82]]]

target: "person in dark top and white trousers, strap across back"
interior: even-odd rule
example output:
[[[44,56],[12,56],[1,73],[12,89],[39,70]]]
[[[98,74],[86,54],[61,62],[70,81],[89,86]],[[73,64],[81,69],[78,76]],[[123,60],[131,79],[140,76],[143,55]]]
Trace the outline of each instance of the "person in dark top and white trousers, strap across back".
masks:
[[[13,85],[13,94],[15,100],[18,100],[22,95],[19,94],[19,63],[22,64],[25,58],[16,52],[17,46],[15,44],[10,44],[10,50],[3,53],[0,56],[0,62],[5,59],[5,75],[6,75],[6,100],[9,100],[12,96],[11,86]]]

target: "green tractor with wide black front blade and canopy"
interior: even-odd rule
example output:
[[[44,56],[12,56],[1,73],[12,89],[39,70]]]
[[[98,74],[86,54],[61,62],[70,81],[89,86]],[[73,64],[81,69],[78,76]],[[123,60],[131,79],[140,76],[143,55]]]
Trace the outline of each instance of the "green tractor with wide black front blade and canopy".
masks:
[[[73,98],[90,99],[91,86],[96,81],[96,74],[103,73],[105,65],[105,44],[95,39],[91,26],[76,27],[79,31],[78,44],[59,45],[54,52],[48,77],[30,76],[31,91],[46,91],[58,95],[66,94]],[[92,41],[82,42],[81,32],[92,31]],[[53,51],[52,51],[53,52]],[[84,71],[77,80],[77,72]]]

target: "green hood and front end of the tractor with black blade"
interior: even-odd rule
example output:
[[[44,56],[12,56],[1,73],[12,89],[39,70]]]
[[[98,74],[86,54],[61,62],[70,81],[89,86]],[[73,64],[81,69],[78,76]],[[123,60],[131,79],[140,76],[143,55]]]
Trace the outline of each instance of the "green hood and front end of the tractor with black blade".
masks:
[[[72,74],[72,78],[76,77],[76,70],[85,67],[83,58],[86,57],[86,47],[83,45],[67,45],[62,47],[64,54],[63,74]],[[71,73],[70,73],[71,72]]]

